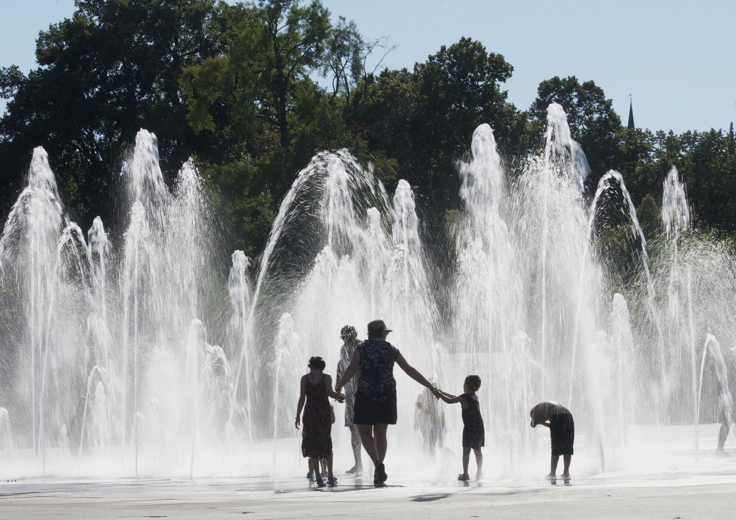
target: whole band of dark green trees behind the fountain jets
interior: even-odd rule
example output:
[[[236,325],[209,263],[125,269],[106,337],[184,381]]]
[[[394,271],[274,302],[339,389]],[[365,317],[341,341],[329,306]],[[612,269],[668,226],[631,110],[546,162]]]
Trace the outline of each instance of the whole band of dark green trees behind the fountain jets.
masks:
[[[604,91],[574,76],[542,82],[529,110],[519,110],[503,90],[512,65],[470,38],[411,71],[381,68],[390,50],[319,0],[79,0],[71,18],[40,33],[37,69],[0,68],[8,100],[0,210],[7,214],[40,145],[71,213],[109,221],[122,162],[144,127],[158,136],[169,177],[195,158],[232,246],[248,254],[260,251],[278,202],[319,149],[347,147],[375,165],[389,191],[407,179],[428,215],[440,216],[428,225],[441,230],[459,206],[456,161],[473,129],[489,123],[502,153],[523,157],[539,146],[545,108],[556,101],[590,161],[589,188],[620,171],[643,204],[646,233],[657,232],[671,165],[698,224],[736,231],[732,133],[626,129]]]

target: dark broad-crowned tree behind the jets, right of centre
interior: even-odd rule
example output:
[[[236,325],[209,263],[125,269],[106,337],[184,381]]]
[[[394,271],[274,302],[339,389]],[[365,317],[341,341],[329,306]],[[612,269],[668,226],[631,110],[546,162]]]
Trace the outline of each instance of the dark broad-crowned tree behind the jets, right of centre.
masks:
[[[470,149],[478,125],[490,124],[505,152],[526,149],[520,145],[527,138],[526,114],[506,101],[500,88],[512,70],[500,54],[461,38],[414,65],[413,72],[367,76],[364,93],[355,96],[364,106],[350,127],[365,136],[371,150],[395,160],[400,176],[418,192],[447,200],[456,190],[456,161]]]

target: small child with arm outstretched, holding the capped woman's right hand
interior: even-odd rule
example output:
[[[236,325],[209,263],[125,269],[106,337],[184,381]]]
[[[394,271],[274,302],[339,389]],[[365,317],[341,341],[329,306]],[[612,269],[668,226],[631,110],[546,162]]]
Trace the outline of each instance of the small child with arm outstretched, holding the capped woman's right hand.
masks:
[[[453,396],[441,390],[435,392],[435,395],[447,404],[459,402],[462,405],[462,423],[464,425],[462,429],[462,473],[458,475],[458,480],[470,480],[467,474],[467,466],[470,463],[470,449],[475,452],[475,463],[478,465],[478,473],[475,474],[477,480],[481,479],[483,471],[481,448],[486,444],[486,430],[483,427],[478,396],[475,395],[478,388],[481,388],[481,378],[470,375],[465,378],[464,393],[460,396]]]

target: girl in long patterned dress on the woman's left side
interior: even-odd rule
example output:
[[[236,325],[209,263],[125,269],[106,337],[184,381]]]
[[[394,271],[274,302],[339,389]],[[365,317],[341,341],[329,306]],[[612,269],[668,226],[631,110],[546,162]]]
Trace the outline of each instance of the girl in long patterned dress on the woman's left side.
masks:
[[[319,474],[319,460],[327,459],[327,483],[336,485],[337,479],[332,473],[332,413],[328,397],[342,402],[343,396],[332,389],[332,378],[322,374],[325,369],[325,360],[319,356],[309,358],[309,374],[302,376],[299,404],[297,405],[297,419],[294,426],[299,430],[300,416],[304,407],[304,429],[302,430],[302,456],[309,457],[312,467],[316,468],[316,482],[319,487],[325,485],[325,480]],[[306,406],[304,406],[306,400]]]

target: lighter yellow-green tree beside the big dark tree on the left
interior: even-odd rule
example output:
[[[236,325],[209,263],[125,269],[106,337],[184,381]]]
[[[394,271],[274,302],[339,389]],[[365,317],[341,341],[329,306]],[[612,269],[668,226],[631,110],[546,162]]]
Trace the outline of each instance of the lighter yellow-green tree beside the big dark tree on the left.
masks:
[[[297,85],[323,61],[329,12],[319,0],[306,7],[299,0],[260,1],[242,7],[234,25],[238,35],[227,51],[184,71],[191,127],[225,132],[234,142],[277,132],[286,149]]]

